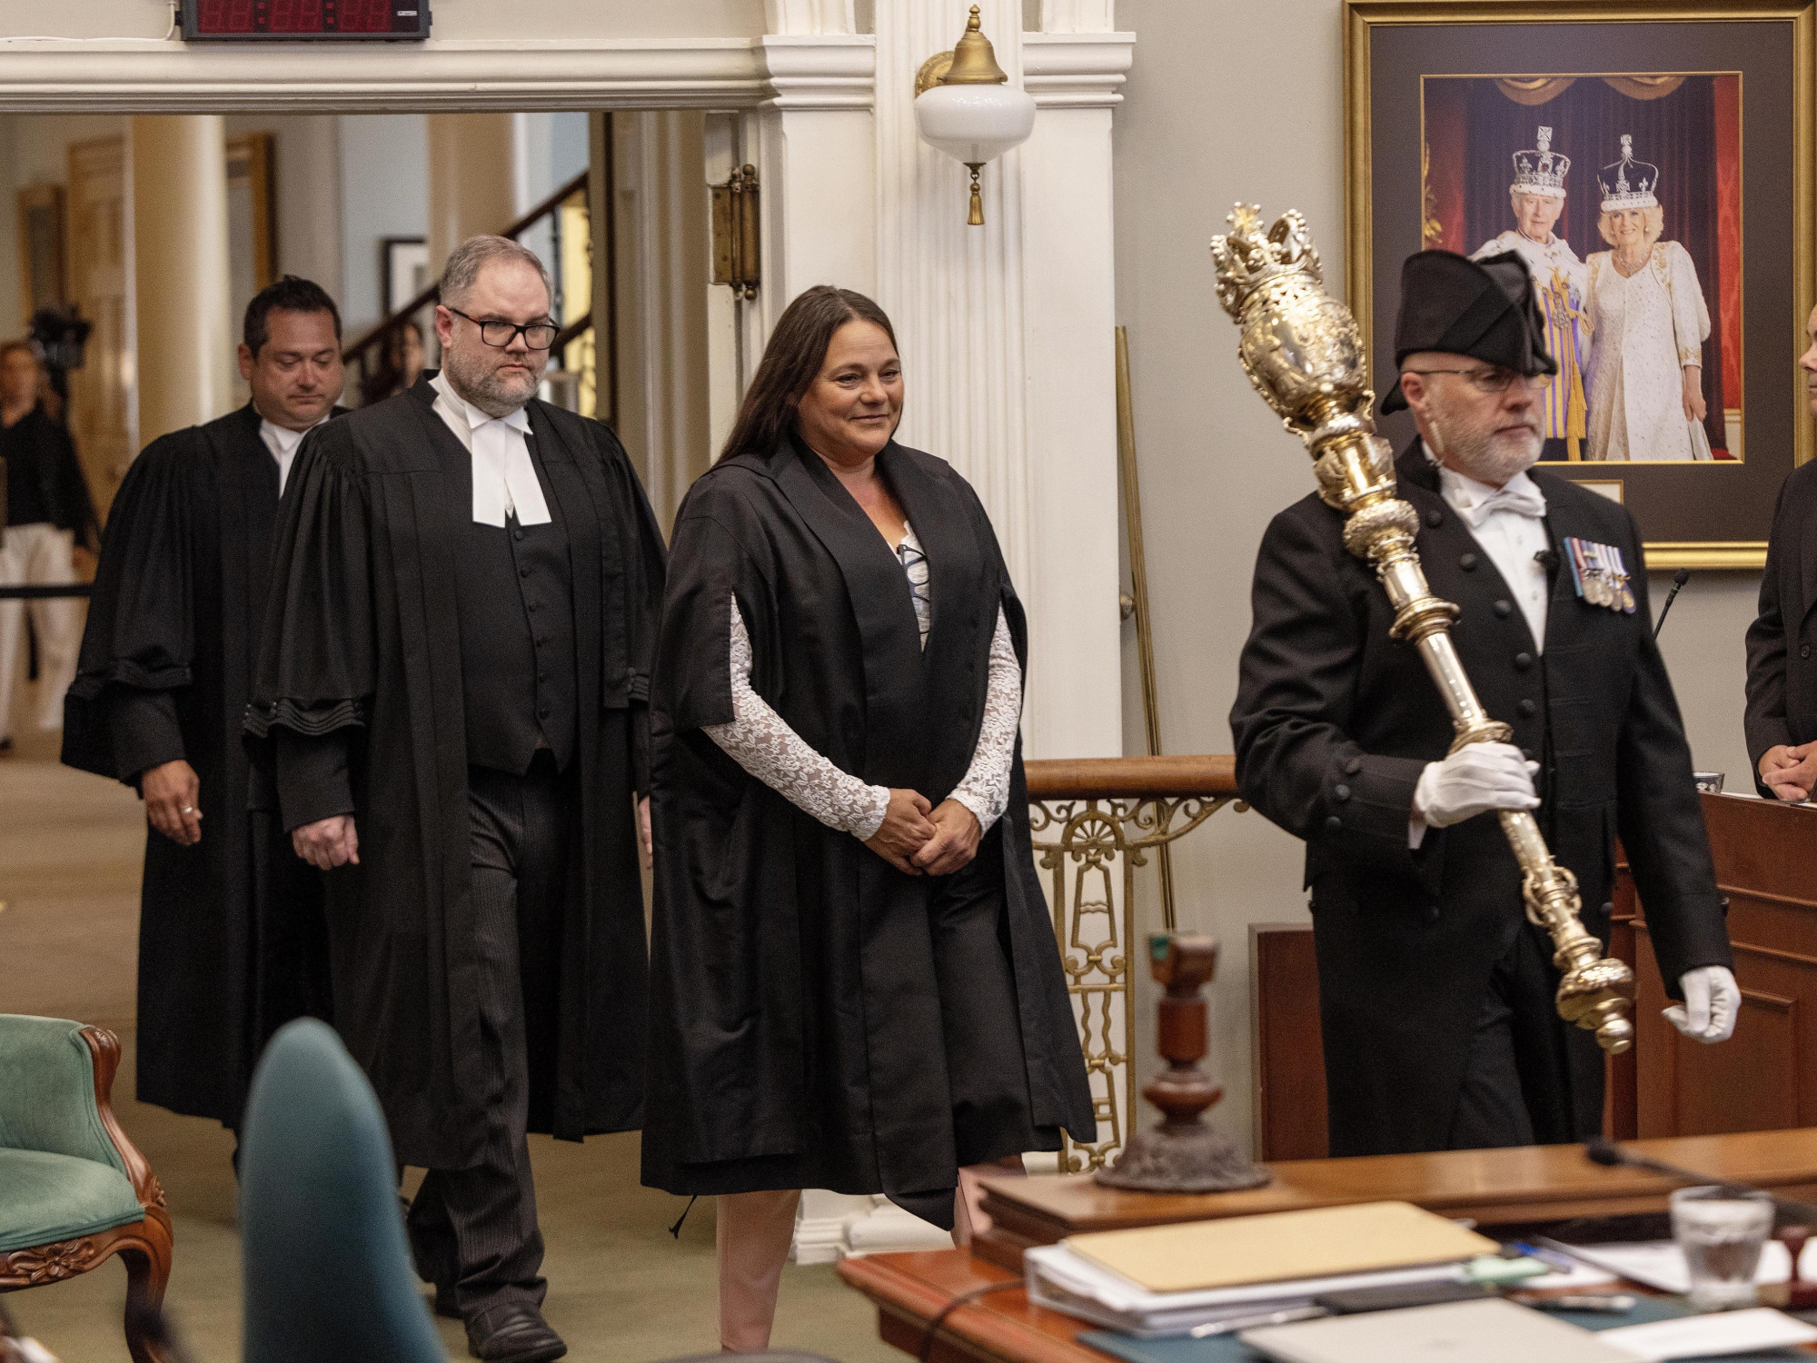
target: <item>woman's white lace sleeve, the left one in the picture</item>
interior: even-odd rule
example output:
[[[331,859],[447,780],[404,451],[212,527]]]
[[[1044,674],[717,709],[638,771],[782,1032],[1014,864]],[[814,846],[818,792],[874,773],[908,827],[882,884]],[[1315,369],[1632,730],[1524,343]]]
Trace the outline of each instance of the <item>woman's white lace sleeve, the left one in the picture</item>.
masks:
[[[1012,660],[1014,662],[1014,656]],[[890,792],[839,771],[807,745],[770,703],[750,689],[750,631],[732,600],[732,723],[705,725],[707,738],[740,767],[829,829],[869,841],[883,827]],[[1007,778],[1007,769],[1005,769]]]

